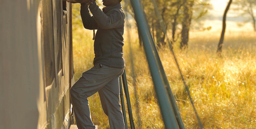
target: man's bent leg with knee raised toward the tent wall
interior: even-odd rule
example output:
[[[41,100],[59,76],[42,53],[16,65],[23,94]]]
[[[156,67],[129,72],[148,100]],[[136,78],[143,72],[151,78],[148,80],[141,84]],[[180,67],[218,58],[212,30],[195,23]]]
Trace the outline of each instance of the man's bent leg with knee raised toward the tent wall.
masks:
[[[87,97],[95,94],[114,77],[122,73],[123,69],[112,67],[99,67],[96,64],[87,70],[70,89],[71,101],[76,116],[78,129],[95,129],[90,118],[90,108]]]

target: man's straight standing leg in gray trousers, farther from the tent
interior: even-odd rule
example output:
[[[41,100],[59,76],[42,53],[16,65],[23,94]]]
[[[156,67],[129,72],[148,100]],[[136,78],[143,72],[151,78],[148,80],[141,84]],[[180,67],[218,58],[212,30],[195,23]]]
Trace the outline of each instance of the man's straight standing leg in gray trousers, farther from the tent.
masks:
[[[109,117],[111,129],[125,129],[119,95],[119,76],[99,90],[101,105],[104,113]]]

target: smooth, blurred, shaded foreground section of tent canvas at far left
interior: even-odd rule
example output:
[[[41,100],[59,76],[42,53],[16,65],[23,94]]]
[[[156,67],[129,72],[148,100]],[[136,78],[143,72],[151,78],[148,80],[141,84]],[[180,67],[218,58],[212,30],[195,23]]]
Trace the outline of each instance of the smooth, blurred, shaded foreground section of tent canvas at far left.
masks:
[[[39,112],[39,0],[1,0],[1,128],[35,129]],[[31,79],[30,77],[35,77]]]

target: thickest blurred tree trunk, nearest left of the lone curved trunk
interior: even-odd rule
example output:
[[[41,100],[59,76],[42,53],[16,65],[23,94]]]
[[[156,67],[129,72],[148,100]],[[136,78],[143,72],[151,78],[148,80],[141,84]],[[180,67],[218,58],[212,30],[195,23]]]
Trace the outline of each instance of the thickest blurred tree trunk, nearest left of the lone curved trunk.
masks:
[[[185,49],[188,47],[189,29],[192,20],[193,5],[194,0],[187,0],[184,2],[184,18],[182,21],[180,49]]]

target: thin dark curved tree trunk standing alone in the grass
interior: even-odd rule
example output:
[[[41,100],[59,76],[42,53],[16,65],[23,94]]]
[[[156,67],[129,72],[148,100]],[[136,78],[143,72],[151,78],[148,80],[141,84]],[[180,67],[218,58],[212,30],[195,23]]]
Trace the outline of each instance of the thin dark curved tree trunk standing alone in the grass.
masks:
[[[225,30],[226,30],[226,16],[227,16],[227,11],[231,5],[231,2],[232,2],[232,0],[229,0],[226,10],[223,15],[222,32],[221,32],[220,41],[219,41],[218,49],[217,49],[218,56],[220,56],[221,52],[222,52],[223,40],[224,40],[224,35],[225,35]]]

